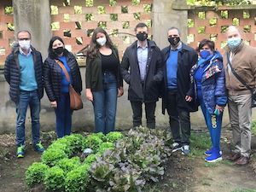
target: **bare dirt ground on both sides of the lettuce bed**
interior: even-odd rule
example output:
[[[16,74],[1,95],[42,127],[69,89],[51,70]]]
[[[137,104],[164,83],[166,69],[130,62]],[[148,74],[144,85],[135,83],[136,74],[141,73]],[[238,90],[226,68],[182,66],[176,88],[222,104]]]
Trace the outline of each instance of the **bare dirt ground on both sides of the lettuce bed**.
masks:
[[[229,153],[230,131],[222,137],[224,157]],[[44,139],[44,144],[50,138]],[[26,144],[26,156],[15,158],[15,136],[0,136],[0,192],[28,192],[26,168],[40,160],[40,154]],[[252,139],[253,157],[247,166],[234,166],[228,160],[207,164],[200,157],[172,154],[166,174],[159,183],[150,184],[147,192],[256,192],[256,137]]]

